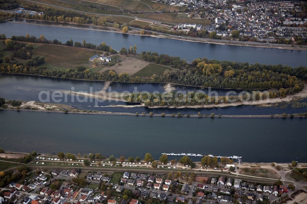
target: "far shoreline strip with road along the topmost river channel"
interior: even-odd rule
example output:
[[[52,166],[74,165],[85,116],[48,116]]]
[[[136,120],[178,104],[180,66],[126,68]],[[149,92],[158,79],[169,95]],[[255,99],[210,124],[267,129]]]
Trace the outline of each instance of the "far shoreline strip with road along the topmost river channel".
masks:
[[[18,19],[23,19],[27,21],[45,21],[45,22],[52,22],[55,23],[54,21],[46,21],[46,20],[39,20],[39,19],[26,19],[26,18],[18,18]],[[23,23],[23,22],[13,22],[13,21],[7,21],[8,23],[19,23],[19,24],[26,24],[26,25],[39,25],[39,24],[34,24],[34,23]],[[59,21],[58,23],[68,23],[64,21]],[[99,26],[96,25],[91,25],[91,24],[76,24],[76,23],[68,23],[71,25],[84,25],[84,26],[94,26],[99,28]],[[83,30],[93,30],[93,31],[101,31],[101,32],[114,32],[114,33],[121,33],[121,31],[115,29],[115,28],[110,28],[110,27],[103,27],[100,26],[101,28],[107,28],[107,29],[114,29],[115,31],[109,31],[109,30],[100,30],[100,29],[92,29],[92,28],[76,28],[76,27],[69,27],[69,26],[60,26],[60,25],[41,25],[41,26],[51,26],[51,27],[60,27],[60,28],[74,28],[74,29],[83,29]],[[133,27],[131,27],[134,29]],[[135,29],[134,29],[135,30]],[[138,30],[137,30],[138,31]],[[154,31],[151,31],[154,32]],[[282,45],[278,47],[268,47],[265,44],[264,45],[249,45],[249,44],[240,44],[239,41],[236,43],[236,41],[233,42],[213,42],[213,41],[207,41],[206,39],[198,39],[196,38],[195,40],[188,40],[188,39],[182,39],[180,37],[174,37],[174,36],[165,36],[162,34],[157,34],[156,35],[142,35],[139,33],[124,33],[128,35],[137,35],[137,36],[147,36],[147,37],[155,37],[155,38],[165,38],[165,39],[173,39],[173,40],[182,40],[182,41],[188,41],[188,42],[198,42],[198,43],[208,43],[208,44],[218,44],[218,45],[233,45],[233,46],[246,46],[246,47],[261,47],[261,48],[277,48],[277,49],[284,49],[284,50],[297,50],[297,51],[307,51],[307,47],[283,47]]]

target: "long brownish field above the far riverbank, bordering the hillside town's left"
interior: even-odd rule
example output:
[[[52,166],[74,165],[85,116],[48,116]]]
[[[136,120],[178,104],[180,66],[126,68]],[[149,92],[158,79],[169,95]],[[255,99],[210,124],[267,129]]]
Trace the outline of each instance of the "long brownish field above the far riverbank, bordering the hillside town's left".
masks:
[[[136,17],[139,18],[146,18],[153,21],[160,21],[166,23],[196,23],[201,25],[211,25],[210,20],[203,20],[203,19],[194,19],[189,18],[185,13],[141,13],[141,14],[134,14]]]

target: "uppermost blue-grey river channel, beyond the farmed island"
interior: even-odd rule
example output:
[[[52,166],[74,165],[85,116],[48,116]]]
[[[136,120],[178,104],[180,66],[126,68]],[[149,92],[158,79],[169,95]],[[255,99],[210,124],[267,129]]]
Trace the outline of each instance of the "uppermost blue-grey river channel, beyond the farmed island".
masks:
[[[15,20],[18,22],[29,22],[26,20]],[[33,21],[31,21],[33,23]],[[35,22],[34,22],[35,23]],[[166,38],[154,38],[150,36],[127,35],[115,32],[103,32],[97,30],[84,30],[75,28],[29,25],[19,23],[4,22],[0,24],[0,33],[7,37],[31,36],[39,37],[44,35],[46,39],[57,39],[62,42],[72,39],[74,42],[100,44],[106,42],[108,45],[119,51],[122,47],[130,47],[134,44],[138,47],[138,52],[153,51],[159,54],[179,56],[191,62],[196,58],[206,57],[208,59],[240,61],[262,64],[283,64],[291,67],[307,66],[307,51],[284,50],[275,48],[244,47],[233,45],[207,44],[173,40]],[[46,23],[45,23],[46,24]],[[48,23],[50,25],[63,25],[63,23]],[[84,28],[84,25],[73,25]],[[88,26],[91,28],[91,26]]]

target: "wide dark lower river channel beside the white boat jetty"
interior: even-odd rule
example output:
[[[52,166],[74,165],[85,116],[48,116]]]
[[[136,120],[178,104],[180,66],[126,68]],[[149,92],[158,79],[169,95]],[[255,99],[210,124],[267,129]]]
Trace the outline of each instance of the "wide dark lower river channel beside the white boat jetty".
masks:
[[[243,162],[307,162],[306,119],[173,118],[0,110],[0,147],[39,153],[242,156]],[[172,158],[172,157],[169,157]],[[174,158],[174,157],[173,157]],[[180,157],[177,157],[179,159]],[[200,161],[200,157],[193,157]]]

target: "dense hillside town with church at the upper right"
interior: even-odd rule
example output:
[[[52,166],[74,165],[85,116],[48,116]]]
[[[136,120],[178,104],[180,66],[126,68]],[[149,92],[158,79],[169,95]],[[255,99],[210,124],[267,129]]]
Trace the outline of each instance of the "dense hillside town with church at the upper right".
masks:
[[[217,36],[234,37],[232,31],[238,31],[244,40],[253,39],[258,42],[279,42],[300,37],[306,40],[307,17],[298,17],[302,12],[298,1],[251,1],[227,5],[222,0],[184,1],[190,9],[195,10],[194,16],[212,20],[212,25],[180,23],[175,29],[187,29],[194,32],[201,30],[216,32]],[[210,2],[209,6],[208,3]],[[212,2],[212,3],[211,3]],[[218,3],[220,2],[220,3]],[[190,6],[193,5],[193,6]],[[205,8],[205,9],[204,9]],[[199,33],[198,33],[199,35]],[[280,39],[283,39],[280,41]],[[296,42],[302,44],[301,41]]]

